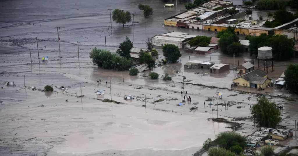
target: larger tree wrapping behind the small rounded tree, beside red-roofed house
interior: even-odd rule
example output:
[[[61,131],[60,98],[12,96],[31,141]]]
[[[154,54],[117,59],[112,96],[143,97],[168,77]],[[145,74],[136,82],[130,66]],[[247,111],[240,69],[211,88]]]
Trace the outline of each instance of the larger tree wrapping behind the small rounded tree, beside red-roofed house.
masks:
[[[224,33],[221,38],[218,40],[218,45],[221,47],[221,52],[225,54],[231,54],[228,53],[228,46],[232,44],[233,42],[238,42],[239,37],[236,34],[231,33]]]

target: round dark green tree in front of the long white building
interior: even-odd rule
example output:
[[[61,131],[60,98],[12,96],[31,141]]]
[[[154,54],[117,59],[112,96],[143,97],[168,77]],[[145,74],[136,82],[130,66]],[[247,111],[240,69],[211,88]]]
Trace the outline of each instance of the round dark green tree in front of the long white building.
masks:
[[[167,61],[171,63],[175,63],[181,57],[178,46],[173,44],[164,44],[162,52]]]

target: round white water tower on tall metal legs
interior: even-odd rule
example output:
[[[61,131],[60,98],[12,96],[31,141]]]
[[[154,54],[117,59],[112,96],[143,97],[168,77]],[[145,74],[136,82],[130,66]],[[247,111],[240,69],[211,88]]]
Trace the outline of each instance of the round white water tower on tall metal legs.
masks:
[[[272,48],[271,47],[260,47],[260,48],[258,48],[257,58],[258,58],[259,68],[263,66],[264,71],[265,71],[265,67],[266,67],[266,70],[267,70],[267,73],[268,73],[268,67],[272,67],[271,72],[274,71],[274,61],[273,61],[273,55],[272,55]],[[260,65],[260,60],[263,60],[263,64],[261,62],[261,65]],[[269,65],[268,65],[268,63],[269,63]]]

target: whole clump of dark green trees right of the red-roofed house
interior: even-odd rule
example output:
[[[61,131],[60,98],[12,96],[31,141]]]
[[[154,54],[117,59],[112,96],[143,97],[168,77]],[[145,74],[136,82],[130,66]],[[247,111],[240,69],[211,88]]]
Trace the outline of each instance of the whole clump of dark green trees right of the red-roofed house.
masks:
[[[235,34],[235,27],[228,27],[225,30],[218,32],[217,36],[218,45],[221,47],[221,52],[228,54],[229,56],[238,56],[239,53],[243,53],[244,46],[239,42],[239,37]]]

